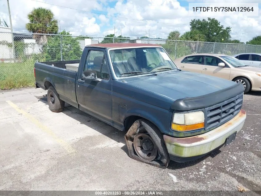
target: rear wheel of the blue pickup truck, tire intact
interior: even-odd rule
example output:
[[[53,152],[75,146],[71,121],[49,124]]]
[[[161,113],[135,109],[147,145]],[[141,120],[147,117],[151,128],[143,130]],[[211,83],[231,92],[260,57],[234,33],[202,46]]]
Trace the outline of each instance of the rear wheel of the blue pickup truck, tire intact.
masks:
[[[48,101],[49,109],[51,111],[53,112],[63,111],[65,102],[60,99],[59,94],[53,88],[53,86],[50,86],[47,91],[47,101]]]

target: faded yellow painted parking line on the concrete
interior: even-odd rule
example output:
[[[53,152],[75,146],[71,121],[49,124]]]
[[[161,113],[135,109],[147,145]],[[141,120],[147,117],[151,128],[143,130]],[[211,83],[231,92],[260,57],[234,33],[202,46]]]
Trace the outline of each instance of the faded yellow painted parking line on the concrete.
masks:
[[[38,120],[36,120],[32,115],[28,114],[26,111],[23,111],[21,108],[19,108],[17,105],[15,105],[11,101],[6,101],[10,106],[12,106],[16,111],[19,112],[19,114],[23,114],[25,117],[27,117],[28,120],[30,120],[33,124],[35,124],[37,127],[42,129],[43,132],[48,133],[50,136],[53,137],[53,139],[58,142],[61,146],[67,150],[68,153],[75,152],[72,146],[70,146],[67,142],[59,138],[55,133],[52,132],[50,128],[47,126],[44,126],[42,123],[40,123]]]

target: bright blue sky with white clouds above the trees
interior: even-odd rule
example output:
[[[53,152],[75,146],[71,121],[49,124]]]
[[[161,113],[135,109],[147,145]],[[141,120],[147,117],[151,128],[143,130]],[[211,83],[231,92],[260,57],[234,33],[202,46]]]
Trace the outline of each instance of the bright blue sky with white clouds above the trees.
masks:
[[[37,1],[39,2],[33,0],[9,0],[14,32],[27,32],[25,29],[25,24],[28,22],[27,14],[33,8],[45,7],[51,9],[55,18],[60,21],[61,30],[65,29],[73,35],[104,37],[107,34],[113,34],[115,27],[116,36],[166,38],[170,31],[178,30],[181,34],[189,31],[189,22],[194,18],[207,19],[206,15],[189,16],[188,3],[216,2],[222,6],[224,2],[259,2],[258,16],[234,14],[232,16],[216,16],[215,18],[224,27],[231,27],[231,39],[246,42],[252,37],[261,35],[261,0]],[[214,16],[209,17],[213,18]],[[10,24],[6,0],[0,0],[0,18],[4,19],[8,25]]]

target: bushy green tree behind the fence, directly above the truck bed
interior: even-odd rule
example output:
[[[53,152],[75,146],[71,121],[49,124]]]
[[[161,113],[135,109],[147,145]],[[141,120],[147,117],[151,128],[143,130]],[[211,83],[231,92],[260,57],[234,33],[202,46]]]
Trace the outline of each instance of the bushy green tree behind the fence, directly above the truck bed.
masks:
[[[61,35],[71,35],[63,30]],[[46,61],[60,61],[62,47],[62,60],[81,59],[82,49],[78,39],[71,36],[50,36],[47,44],[44,46],[44,57]]]

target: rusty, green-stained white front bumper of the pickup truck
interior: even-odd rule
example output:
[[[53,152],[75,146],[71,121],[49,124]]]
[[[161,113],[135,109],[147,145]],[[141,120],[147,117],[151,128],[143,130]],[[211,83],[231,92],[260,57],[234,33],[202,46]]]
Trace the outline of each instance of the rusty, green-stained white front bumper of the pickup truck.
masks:
[[[164,135],[170,159],[186,162],[210,153],[222,146],[227,137],[238,132],[243,127],[245,119],[246,111],[241,109],[233,119],[207,133],[183,138]]]

